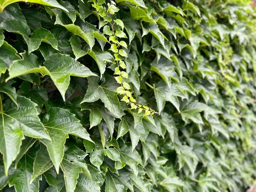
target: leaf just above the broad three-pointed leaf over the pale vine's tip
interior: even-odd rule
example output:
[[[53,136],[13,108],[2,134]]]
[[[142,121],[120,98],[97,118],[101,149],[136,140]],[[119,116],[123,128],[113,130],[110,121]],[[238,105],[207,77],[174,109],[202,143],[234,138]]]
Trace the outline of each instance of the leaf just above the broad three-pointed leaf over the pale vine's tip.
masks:
[[[154,59],[151,63],[151,70],[155,71],[166,84],[171,88],[171,79],[179,81],[179,77],[175,72],[175,66],[172,64],[172,61],[161,57],[157,62],[157,58]]]

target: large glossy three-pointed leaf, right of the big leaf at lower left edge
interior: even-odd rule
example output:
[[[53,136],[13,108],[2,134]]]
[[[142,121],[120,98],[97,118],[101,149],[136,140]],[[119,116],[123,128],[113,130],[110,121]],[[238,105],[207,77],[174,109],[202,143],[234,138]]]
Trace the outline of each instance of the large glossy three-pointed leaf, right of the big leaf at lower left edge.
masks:
[[[65,116],[66,121],[61,122]],[[59,166],[64,156],[64,143],[68,134],[81,137],[93,142],[86,129],[82,127],[75,115],[62,108],[51,108],[43,119],[44,127],[47,128],[52,141],[41,140],[49,152],[49,156],[58,173]]]

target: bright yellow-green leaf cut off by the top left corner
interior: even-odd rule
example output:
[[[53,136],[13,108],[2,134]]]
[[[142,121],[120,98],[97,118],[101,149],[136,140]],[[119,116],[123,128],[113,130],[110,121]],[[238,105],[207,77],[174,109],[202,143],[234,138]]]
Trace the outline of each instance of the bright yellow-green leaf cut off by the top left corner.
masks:
[[[38,3],[44,6],[52,6],[52,7],[57,7],[59,9],[63,9],[65,11],[68,12],[68,10],[66,8],[64,8],[63,6],[61,6],[57,1],[55,0],[4,0],[3,2],[1,2],[0,4],[0,13],[3,12],[3,9],[8,6],[11,3],[15,3],[15,2],[19,2],[19,1],[23,1],[26,3]]]

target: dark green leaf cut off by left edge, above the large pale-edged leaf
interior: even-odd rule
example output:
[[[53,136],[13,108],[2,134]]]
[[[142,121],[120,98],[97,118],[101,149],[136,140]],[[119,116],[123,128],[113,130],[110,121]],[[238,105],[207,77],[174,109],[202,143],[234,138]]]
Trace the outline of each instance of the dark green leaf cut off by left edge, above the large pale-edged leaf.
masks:
[[[3,45],[0,47],[0,75],[6,72],[6,69],[13,63],[13,61],[20,59],[17,55],[17,51],[6,41],[3,41]]]

